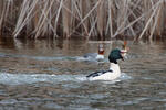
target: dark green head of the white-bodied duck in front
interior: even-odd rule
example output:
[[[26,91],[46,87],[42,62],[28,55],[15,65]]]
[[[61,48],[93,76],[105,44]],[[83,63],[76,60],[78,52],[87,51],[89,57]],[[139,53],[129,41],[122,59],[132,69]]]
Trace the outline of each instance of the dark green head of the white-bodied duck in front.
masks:
[[[110,55],[108,55],[108,61],[111,63],[117,64],[117,59],[123,59],[123,56],[121,54],[121,50],[118,50],[118,48],[112,50]]]

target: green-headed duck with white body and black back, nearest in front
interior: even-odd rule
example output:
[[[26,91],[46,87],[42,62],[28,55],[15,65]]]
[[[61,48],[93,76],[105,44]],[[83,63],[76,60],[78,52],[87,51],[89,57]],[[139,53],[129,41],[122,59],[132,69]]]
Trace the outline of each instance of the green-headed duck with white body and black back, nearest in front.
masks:
[[[110,55],[108,55],[108,61],[110,61],[110,69],[108,70],[100,70],[92,73],[86,76],[87,79],[90,80],[114,80],[117,77],[121,76],[121,69],[117,64],[117,59],[123,59],[125,56],[126,52],[123,50],[112,50]]]

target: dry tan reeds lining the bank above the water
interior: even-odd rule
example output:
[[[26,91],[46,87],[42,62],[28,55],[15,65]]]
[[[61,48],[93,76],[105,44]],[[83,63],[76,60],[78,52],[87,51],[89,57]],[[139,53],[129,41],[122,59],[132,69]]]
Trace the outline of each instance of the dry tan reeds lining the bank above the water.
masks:
[[[165,37],[165,0],[0,0],[0,36]]]

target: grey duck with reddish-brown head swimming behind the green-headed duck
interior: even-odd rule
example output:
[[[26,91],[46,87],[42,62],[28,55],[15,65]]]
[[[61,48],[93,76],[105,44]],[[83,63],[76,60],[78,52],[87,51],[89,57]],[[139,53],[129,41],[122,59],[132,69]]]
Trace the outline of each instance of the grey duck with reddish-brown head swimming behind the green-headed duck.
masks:
[[[87,53],[83,56],[86,59],[104,59],[104,46],[102,44],[98,45],[98,53]]]

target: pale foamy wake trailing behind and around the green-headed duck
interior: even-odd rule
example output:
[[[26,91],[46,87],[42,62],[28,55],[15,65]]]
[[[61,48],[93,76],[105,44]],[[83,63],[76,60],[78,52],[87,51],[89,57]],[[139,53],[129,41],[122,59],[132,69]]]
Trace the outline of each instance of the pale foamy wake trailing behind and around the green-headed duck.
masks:
[[[115,80],[107,80],[108,82],[116,82],[122,80],[131,79],[132,77],[125,73]],[[9,74],[0,73],[0,84],[3,85],[25,85],[33,82],[51,82],[59,84],[65,81],[87,81],[85,75],[49,75],[49,74]],[[90,81],[90,80],[89,80]],[[102,81],[102,80],[101,80]]]

